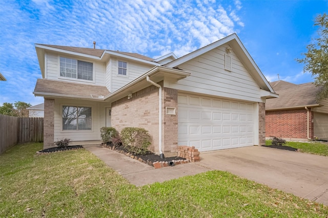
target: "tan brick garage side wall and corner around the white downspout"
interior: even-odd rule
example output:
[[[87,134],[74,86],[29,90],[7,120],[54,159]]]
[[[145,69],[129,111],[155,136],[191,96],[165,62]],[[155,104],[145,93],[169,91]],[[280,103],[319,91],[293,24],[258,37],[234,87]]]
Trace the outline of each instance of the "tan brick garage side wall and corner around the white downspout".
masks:
[[[159,83],[160,84],[160,83]],[[177,110],[177,90],[163,88],[162,152],[165,157],[177,155],[177,115],[167,115],[166,107]],[[158,88],[154,85],[133,93],[132,98],[121,98],[112,103],[112,126],[120,132],[125,127],[142,127],[152,136],[149,149],[159,154],[158,144]]]

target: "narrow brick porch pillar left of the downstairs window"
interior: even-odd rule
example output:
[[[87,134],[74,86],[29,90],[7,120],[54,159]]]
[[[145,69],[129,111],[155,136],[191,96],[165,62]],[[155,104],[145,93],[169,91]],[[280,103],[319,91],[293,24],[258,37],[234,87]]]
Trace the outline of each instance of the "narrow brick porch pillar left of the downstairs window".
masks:
[[[54,145],[54,111],[55,99],[45,98],[44,149]]]

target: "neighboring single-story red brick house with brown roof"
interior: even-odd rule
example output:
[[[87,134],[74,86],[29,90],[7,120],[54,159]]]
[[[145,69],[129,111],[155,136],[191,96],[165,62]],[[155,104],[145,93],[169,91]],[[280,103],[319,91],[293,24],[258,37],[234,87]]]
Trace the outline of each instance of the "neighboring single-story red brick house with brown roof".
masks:
[[[320,90],[312,82],[270,83],[279,98],[265,105],[265,136],[290,140],[328,139],[328,100],[316,100]]]

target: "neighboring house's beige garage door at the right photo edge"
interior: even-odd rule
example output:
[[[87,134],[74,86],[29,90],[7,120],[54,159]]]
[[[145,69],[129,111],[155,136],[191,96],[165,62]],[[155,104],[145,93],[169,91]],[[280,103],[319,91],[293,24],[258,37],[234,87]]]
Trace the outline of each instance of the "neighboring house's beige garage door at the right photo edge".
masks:
[[[314,113],[314,136],[328,140],[328,114]]]

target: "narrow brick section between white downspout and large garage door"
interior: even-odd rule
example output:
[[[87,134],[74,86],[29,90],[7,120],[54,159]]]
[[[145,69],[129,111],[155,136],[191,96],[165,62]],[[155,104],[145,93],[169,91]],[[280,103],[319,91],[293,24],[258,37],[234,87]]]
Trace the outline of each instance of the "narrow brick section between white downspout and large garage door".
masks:
[[[163,88],[162,151],[165,157],[178,154],[178,91]],[[175,115],[166,114],[166,107],[174,107]]]

